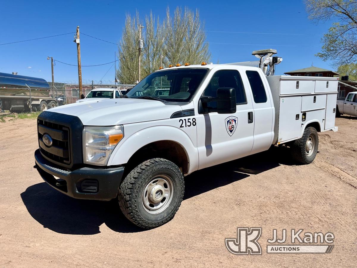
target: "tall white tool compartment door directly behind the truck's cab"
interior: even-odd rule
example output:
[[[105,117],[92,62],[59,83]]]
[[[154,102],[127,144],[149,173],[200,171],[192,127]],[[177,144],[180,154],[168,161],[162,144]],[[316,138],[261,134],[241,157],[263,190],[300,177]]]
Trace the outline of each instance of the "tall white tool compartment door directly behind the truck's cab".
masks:
[[[298,118],[297,118],[298,115]],[[278,143],[299,138],[301,133],[301,96],[281,97],[279,103]]]

